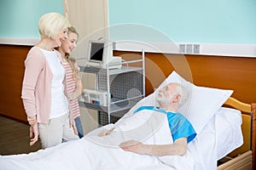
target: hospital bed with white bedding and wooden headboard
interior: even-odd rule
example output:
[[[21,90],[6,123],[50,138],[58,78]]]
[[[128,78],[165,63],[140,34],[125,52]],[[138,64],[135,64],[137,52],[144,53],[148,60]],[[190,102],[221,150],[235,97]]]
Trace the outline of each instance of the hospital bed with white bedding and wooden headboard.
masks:
[[[134,136],[124,137],[124,133],[119,135],[119,131],[104,138],[96,136],[102,128],[115,127],[123,131],[129,128],[137,129],[130,127],[126,121],[138,121],[133,123],[133,126],[136,126],[142,119],[137,117],[131,120],[128,117],[132,117],[133,111],[140,105],[155,105],[155,94],[168,82],[182,83],[191,94],[179,112],[188,117],[198,135],[189,143],[185,156],[143,156],[119,149],[118,145],[122,139],[143,136],[144,132],[137,130],[128,130],[135,132]],[[195,86],[180,77],[176,71],[172,71],[153,94],[138,102],[120,118],[119,122],[97,128],[83,139],[59,144],[46,150],[0,156],[0,169],[253,169],[255,130],[253,131],[252,127],[255,129],[256,107],[255,104],[247,105],[230,98],[232,93],[229,89]],[[231,109],[230,106],[236,109]],[[158,118],[155,116],[152,120]],[[122,122],[126,122],[127,126],[123,126]],[[152,124],[154,123],[150,123],[149,126],[153,126]],[[140,140],[148,144],[167,144],[172,140],[169,134],[166,135],[169,133],[166,121],[157,129]],[[224,158],[229,161],[217,167],[217,161]]]

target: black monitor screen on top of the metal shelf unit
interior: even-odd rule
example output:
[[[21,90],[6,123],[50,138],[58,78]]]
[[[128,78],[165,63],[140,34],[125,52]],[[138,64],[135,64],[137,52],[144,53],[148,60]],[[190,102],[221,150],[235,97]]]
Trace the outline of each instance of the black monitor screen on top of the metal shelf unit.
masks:
[[[104,51],[104,42],[91,42],[90,59],[102,61]]]

